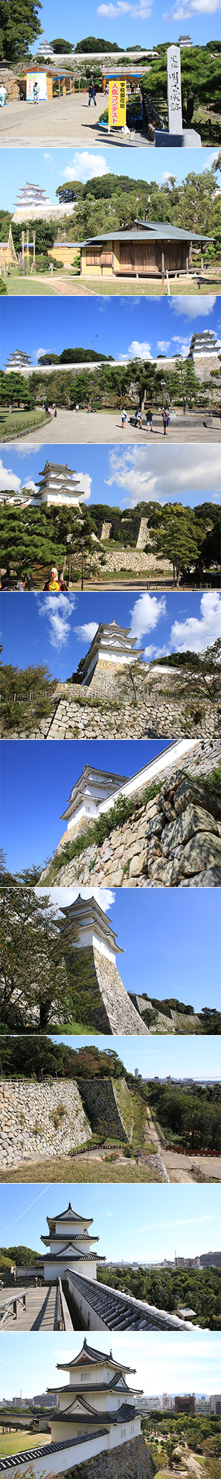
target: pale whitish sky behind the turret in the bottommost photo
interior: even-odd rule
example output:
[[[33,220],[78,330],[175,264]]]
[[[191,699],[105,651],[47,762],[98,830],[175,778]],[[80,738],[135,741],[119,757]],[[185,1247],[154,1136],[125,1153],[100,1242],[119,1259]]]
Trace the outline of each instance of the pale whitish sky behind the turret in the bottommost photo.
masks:
[[[88,1188],[87,1188],[88,1191]],[[32,1396],[46,1392],[50,1386],[65,1386],[65,1371],[57,1371],[60,1361],[77,1356],[81,1350],[81,1333],[72,1334],[68,1340],[63,1334],[4,1334],[1,1367],[1,1396],[19,1395]],[[88,1336],[90,1344],[90,1336]],[[94,1338],[91,1337],[91,1344]],[[146,1395],[168,1392],[220,1392],[220,1336],[206,1330],[171,1334],[161,1331],[125,1331],[125,1334],[110,1334],[96,1331],[96,1350],[106,1350],[110,1344],[116,1361],[136,1368],[134,1381]]]

